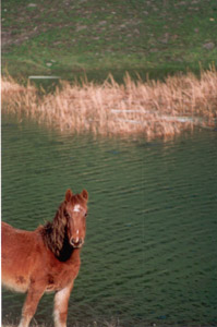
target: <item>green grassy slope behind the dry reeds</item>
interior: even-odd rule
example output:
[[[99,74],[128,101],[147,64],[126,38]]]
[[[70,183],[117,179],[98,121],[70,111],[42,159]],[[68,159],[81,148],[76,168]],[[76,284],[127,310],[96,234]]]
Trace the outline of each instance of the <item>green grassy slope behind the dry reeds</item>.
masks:
[[[14,77],[164,77],[217,63],[216,0],[8,0],[2,32],[2,73]]]

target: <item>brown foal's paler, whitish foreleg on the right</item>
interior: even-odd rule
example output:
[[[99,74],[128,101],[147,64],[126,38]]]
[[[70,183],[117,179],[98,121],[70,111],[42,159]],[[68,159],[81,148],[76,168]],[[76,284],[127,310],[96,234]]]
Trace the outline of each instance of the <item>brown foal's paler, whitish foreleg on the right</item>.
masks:
[[[55,295],[55,327],[67,327],[68,304],[72,287],[67,287]]]

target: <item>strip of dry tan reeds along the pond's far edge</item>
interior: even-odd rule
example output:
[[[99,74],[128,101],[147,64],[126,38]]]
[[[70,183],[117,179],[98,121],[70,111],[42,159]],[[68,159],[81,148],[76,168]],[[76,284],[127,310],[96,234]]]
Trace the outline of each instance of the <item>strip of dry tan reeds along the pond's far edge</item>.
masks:
[[[172,137],[195,126],[215,128],[217,72],[169,76],[165,82],[135,82],[129,74],[118,84],[110,75],[101,85],[61,82],[53,94],[39,95],[28,84],[2,78],[2,108],[25,113],[62,132],[100,135]]]

